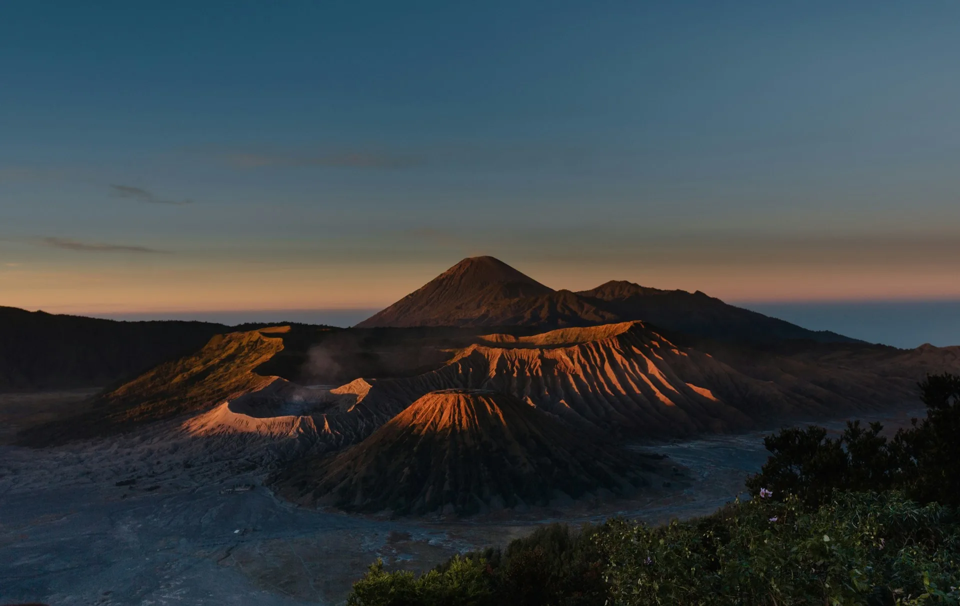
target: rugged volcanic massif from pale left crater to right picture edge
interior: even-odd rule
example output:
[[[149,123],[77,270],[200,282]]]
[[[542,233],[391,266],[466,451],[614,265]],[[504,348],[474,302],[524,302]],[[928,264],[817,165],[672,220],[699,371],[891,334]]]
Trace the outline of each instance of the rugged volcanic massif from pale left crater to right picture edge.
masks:
[[[903,404],[915,400],[924,373],[960,370],[955,351],[937,348],[853,344],[850,351],[832,347],[833,354],[804,358],[744,350],[710,355],[678,347],[641,322],[475,339],[434,371],[359,378],[325,391],[276,379],[183,426],[195,435],[261,434],[340,448],[425,394],[486,389],[601,440],[688,436]]]

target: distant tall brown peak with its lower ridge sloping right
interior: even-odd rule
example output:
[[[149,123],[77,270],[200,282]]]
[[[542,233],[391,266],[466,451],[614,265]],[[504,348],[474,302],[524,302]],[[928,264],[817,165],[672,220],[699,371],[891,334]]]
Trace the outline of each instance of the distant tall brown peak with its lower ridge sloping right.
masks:
[[[697,291],[612,280],[553,290],[492,256],[466,258],[357,327],[584,327],[642,320],[693,337],[743,343],[858,343],[724,303]]]

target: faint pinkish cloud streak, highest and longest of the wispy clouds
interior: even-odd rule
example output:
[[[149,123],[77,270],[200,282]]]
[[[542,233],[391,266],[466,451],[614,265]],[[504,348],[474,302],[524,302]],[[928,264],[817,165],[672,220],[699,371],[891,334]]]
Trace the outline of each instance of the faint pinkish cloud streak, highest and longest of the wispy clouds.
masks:
[[[254,152],[222,155],[235,168],[262,168],[268,166],[320,166],[327,168],[391,169],[409,168],[423,163],[422,158],[385,152]]]

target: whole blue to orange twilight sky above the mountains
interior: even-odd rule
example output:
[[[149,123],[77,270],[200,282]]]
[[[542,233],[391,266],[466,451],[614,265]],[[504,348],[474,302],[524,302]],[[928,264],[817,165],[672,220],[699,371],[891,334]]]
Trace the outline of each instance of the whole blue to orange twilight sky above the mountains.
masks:
[[[954,1],[10,0],[0,304],[377,308],[470,255],[573,290],[960,300],[957,23]]]

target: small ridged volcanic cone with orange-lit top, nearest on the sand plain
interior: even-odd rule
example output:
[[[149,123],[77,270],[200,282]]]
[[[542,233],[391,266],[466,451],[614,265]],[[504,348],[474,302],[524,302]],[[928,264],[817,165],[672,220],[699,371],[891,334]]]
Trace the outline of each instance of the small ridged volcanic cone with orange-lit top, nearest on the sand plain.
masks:
[[[302,503],[401,514],[469,514],[546,505],[604,489],[624,493],[653,470],[635,453],[589,444],[516,398],[483,390],[429,393],[339,455],[276,477]]]

